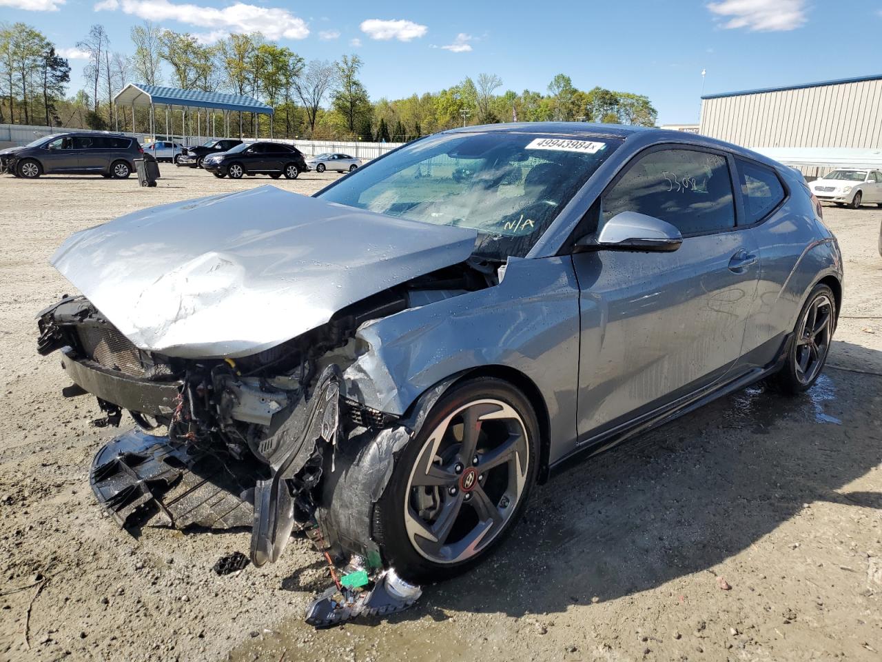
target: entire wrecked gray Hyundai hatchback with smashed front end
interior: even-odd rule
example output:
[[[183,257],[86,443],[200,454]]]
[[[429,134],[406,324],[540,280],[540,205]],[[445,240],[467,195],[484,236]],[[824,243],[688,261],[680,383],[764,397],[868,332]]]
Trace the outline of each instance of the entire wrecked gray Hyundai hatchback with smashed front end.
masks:
[[[798,173],[598,124],[439,133],[311,198],[123,216],[52,264],[82,296],[40,313],[41,354],[138,425],[95,457],[101,506],[251,527],[258,566],[305,532],[344,568],[318,625],[474,566],[573,456],[811,387],[842,297]]]

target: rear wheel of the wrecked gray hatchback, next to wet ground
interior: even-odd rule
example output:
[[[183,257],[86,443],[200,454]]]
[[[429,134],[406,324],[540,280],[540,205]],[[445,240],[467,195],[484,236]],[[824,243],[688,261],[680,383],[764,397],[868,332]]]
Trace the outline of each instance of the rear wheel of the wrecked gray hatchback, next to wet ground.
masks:
[[[824,370],[835,327],[833,290],[818,283],[799,312],[784,366],[769,378],[769,384],[788,395],[798,395],[811,388]]]

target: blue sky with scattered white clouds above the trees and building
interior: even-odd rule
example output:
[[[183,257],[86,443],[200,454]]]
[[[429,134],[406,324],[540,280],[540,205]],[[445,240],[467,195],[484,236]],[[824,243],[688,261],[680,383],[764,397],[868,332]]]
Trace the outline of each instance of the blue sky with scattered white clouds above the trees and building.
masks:
[[[435,3],[336,0],[0,0],[0,20],[35,26],[71,57],[93,23],[131,51],[144,18],[212,41],[260,30],[311,59],[357,53],[371,98],[449,87],[482,71],[504,89],[545,92],[564,72],[647,94],[660,123],[696,122],[706,94],[882,73],[879,0],[630,0]]]

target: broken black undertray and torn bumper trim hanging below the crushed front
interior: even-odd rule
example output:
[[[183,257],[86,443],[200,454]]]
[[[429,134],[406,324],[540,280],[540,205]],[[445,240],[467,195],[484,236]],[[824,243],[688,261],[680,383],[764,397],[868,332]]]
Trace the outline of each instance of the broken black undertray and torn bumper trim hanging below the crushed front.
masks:
[[[330,365],[310,400],[256,448],[265,464],[131,430],[95,455],[93,492],[123,527],[154,514],[177,529],[251,526],[251,562],[274,562],[295,520],[310,523],[310,492],[322,474],[319,445],[336,444],[341,397],[340,370]]]

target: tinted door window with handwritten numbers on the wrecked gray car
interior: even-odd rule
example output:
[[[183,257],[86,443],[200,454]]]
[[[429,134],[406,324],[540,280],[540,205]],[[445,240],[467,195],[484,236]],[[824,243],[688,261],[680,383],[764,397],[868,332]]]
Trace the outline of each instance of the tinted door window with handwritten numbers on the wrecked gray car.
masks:
[[[691,149],[639,157],[603,195],[601,223],[627,211],[660,218],[683,235],[734,228],[729,164],[717,154]]]

